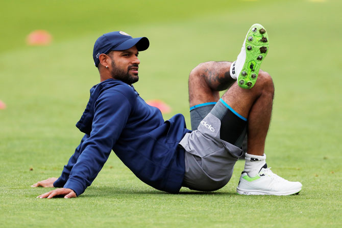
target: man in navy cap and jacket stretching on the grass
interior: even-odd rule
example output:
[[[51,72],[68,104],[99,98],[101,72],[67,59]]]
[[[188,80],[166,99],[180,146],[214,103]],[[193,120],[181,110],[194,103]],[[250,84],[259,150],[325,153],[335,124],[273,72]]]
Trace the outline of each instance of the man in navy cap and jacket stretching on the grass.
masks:
[[[265,162],[274,86],[268,73],[259,72],[268,52],[262,25],[252,25],[234,63],[207,62],[191,71],[193,131],[186,129],[180,114],[164,122],[159,109],[147,105],[132,86],[139,79],[138,51],[148,47],[147,38],[132,38],[121,31],[96,40],[93,59],[101,82],[90,90],[76,125],[85,135],[58,179],[32,185],[61,188],[38,197],[82,194],[111,150],[140,180],[156,189],[178,193],[184,186],[214,191],[230,180],[246,133],[248,153],[237,192],[289,195],[301,191],[301,183],[277,176]],[[227,88],[219,98],[218,91]]]

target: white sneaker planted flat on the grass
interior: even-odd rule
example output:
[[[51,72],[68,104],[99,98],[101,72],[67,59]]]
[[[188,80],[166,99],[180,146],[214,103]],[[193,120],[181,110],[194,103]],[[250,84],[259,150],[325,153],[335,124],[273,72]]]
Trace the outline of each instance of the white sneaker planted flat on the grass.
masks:
[[[261,168],[258,176],[250,178],[242,173],[237,193],[243,195],[292,195],[302,190],[300,182],[287,181],[274,174],[270,168]]]

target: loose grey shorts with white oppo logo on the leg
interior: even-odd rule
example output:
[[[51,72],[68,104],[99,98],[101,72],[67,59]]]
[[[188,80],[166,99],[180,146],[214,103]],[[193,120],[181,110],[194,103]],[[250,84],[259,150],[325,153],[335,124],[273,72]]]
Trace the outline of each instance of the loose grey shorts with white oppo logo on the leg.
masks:
[[[220,139],[221,121],[208,113],[197,130],[185,134],[180,145],[185,149],[183,186],[199,191],[224,187],[233,174],[242,150]]]

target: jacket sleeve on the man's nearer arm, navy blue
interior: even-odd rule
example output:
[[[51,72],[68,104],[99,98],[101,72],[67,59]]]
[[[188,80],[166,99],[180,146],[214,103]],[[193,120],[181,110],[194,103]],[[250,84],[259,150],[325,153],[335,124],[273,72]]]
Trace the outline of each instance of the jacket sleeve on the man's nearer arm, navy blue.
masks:
[[[90,136],[80,145],[80,155],[72,167],[64,188],[80,195],[92,183],[107,161],[131,112],[131,104],[118,91],[105,91],[94,105]]]

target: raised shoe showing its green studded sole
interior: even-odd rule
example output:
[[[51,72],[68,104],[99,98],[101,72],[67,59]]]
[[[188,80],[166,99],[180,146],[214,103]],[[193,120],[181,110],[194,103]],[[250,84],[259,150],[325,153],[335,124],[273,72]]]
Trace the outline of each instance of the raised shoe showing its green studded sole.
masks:
[[[237,60],[232,63],[230,75],[243,89],[251,89],[262,61],[268,53],[268,35],[261,24],[253,24],[243,41]]]

